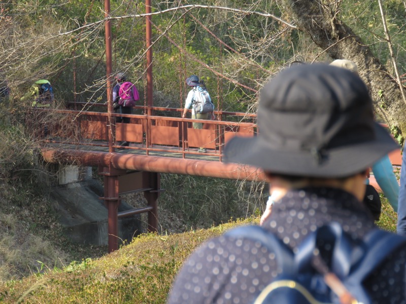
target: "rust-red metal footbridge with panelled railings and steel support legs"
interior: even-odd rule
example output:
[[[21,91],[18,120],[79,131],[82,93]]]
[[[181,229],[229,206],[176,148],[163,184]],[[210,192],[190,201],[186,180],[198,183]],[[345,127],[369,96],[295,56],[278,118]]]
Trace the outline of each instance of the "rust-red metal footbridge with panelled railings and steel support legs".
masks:
[[[103,200],[108,208],[109,251],[118,248],[118,218],[148,213],[149,231],[157,231],[157,199],[163,191],[160,173],[177,173],[230,179],[263,180],[257,168],[224,164],[222,151],[233,136],[256,136],[255,115],[215,111],[216,120],[183,119],[178,108],[136,106],[141,114],[106,112],[106,104],[71,104],[80,110],[33,109],[32,129],[39,130],[42,156],[46,162],[98,167],[104,177]],[[92,110],[83,110],[91,106]],[[97,111],[98,110],[98,111]],[[43,117],[47,120],[44,137]],[[148,115],[159,113],[160,116]],[[55,115],[57,119],[55,119]],[[128,124],[115,123],[128,117]],[[178,116],[178,117],[177,117]],[[203,123],[193,129],[193,122]],[[128,141],[129,146],[116,142]],[[199,153],[205,147],[207,153]],[[144,192],[148,205],[118,212],[121,195]]]

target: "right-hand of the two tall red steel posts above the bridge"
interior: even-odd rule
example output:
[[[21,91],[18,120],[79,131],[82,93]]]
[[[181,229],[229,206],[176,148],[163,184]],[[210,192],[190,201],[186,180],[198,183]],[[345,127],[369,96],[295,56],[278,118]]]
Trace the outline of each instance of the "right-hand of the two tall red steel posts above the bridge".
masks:
[[[151,13],[151,0],[145,0],[145,13]],[[151,42],[151,15],[145,17],[146,47],[147,47],[147,105],[153,106],[153,83],[152,83],[152,42]],[[152,116],[152,110],[148,107],[147,115]]]

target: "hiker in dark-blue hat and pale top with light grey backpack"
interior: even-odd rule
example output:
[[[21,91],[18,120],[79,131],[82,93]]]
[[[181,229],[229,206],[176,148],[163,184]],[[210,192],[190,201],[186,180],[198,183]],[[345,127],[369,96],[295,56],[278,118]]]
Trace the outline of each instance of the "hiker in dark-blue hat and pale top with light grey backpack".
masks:
[[[199,81],[196,75],[191,75],[186,79],[186,84],[192,89],[189,91],[185,101],[185,108],[182,112],[182,118],[186,117],[187,110],[192,106],[192,118],[214,120],[214,105],[206,86]],[[193,129],[202,129],[202,123],[193,123]],[[200,153],[206,153],[205,147],[200,147]]]

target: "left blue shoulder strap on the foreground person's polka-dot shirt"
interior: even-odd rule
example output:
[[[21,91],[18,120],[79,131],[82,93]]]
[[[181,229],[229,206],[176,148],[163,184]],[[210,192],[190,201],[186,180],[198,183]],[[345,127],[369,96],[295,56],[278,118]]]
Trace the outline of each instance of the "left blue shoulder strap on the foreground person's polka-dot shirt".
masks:
[[[226,237],[236,239],[249,239],[254,242],[260,242],[268,251],[274,252],[278,263],[278,268],[285,274],[294,274],[296,267],[293,263],[293,252],[282,240],[274,234],[266,231],[261,226],[248,225],[236,227],[225,233]]]

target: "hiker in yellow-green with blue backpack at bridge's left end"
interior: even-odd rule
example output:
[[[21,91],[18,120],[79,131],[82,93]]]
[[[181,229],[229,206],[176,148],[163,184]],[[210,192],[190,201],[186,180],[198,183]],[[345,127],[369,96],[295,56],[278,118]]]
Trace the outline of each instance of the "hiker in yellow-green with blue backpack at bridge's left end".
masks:
[[[54,100],[54,93],[50,82],[46,79],[37,80],[20,100],[33,98],[32,107],[50,107]]]

